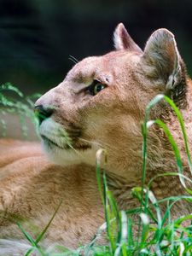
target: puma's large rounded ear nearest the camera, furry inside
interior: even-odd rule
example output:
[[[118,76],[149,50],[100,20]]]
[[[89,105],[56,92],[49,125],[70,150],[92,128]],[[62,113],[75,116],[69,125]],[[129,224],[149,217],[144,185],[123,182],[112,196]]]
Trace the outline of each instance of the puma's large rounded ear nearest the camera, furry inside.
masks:
[[[148,76],[173,89],[183,77],[183,61],[172,32],[161,28],[148,39],[143,54],[143,68]]]

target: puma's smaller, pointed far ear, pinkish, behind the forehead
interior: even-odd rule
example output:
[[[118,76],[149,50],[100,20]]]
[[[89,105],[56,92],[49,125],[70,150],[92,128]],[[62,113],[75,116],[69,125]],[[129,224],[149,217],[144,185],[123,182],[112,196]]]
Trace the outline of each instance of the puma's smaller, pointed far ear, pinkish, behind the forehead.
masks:
[[[123,23],[119,23],[116,27],[113,34],[113,43],[115,49],[128,49],[130,51],[143,52],[126,31]]]

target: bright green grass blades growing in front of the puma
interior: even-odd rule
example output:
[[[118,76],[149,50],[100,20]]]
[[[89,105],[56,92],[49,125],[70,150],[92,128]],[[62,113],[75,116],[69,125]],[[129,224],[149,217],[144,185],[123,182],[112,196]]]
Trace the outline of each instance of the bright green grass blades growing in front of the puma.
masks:
[[[17,92],[18,93],[18,92]],[[43,240],[49,224],[55,217],[59,207],[55,210],[54,216],[50,219],[49,224],[41,232],[37,239],[32,237],[23,230],[22,226],[18,223],[20,232],[27,241],[31,243],[31,247],[26,252],[27,255],[192,255],[192,225],[184,226],[183,222],[192,220],[192,214],[181,216],[177,219],[172,219],[171,210],[177,201],[192,200],[192,191],[186,185],[186,181],[191,183],[189,177],[183,175],[183,165],[180,152],[172,137],[171,132],[168,130],[165,123],[160,119],[150,120],[149,113],[154,105],[160,101],[166,101],[177,115],[177,119],[183,132],[183,141],[185,145],[186,154],[189,162],[189,169],[192,171],[191,158],[189,153],[188,138],[183,124],[183,118],[178,108],[167,96],[158,95],[148,103],[145,111],[145,118],[143,121],[143,169],[142,169],[142,186],[132,188],[132,196],[137,198],[139,207],[127,209],[126,211],[119,211],[116,201],[113,198],[112,192],[108,189],[108,181],[106,178],[106,166],[108,164],[107,152],[100,149],[96,154],[96,178],[98,189],[102,197],[102,203],[105,212],[105,223],[97,230],[96,236],[90,241],[89,244],[79,247],[77,250],[68,250],[63,246],[51,246],[49,248],[42,248],[39,246],[40,241]],[[177,162],[177,172],[166,172],[156,177],[153,177],[146,184],[147,173],[147,160],[148,160],[148,129],[151,125],[160,125],[165,132],[172,145],[172,150],[175,154]],[[102,160],[104,158],[104,165]],[[102,172],[101,172],[102,170]],[[175,170],[172,170],[175,171]],[[188,195],[170,196],[161,200],[157,200],[150,190],[154,179],[161,176],[178,176],[183,188],[187,191]],[[166,211],[162,213],[162,203],[166,204]],[[134,216],[134,218],[132,218]],[[136,218],[135,218],[136,217]],[[137,221],[136,221],[137,219]],[[151,220],[153,224],[151,224]],[[135,231],[137,230],[137,232]],[[107,233],[108,242],[105,246],[96,244],[97,239],[104,233]]]

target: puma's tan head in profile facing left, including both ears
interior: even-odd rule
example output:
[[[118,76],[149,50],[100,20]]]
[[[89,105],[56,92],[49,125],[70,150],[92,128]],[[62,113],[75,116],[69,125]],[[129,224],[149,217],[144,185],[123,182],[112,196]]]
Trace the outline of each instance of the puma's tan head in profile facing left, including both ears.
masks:
[[[94,166],[96,150],[106,148],[109,170],[137,175],[148,102],[164,93],[186,108],[183,61],[166,29],[155,31],[144,50],[123,24],[113,41],[114,51],[79,61],[61,84],[36,102],[39,133],[49,159],[60,165]],[[165,115],[162,108],[158,111]]]

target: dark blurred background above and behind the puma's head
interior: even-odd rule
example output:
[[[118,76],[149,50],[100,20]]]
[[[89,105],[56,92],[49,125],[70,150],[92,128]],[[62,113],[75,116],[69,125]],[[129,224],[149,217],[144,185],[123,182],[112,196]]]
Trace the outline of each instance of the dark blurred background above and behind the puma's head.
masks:
[[[142,48],[166,27],[192,74],[191,0],[0,0],[0,84],[26,94],[59,84],[81,60],[113,49],[113,30],[124,22]]]

